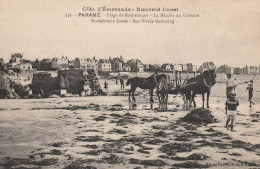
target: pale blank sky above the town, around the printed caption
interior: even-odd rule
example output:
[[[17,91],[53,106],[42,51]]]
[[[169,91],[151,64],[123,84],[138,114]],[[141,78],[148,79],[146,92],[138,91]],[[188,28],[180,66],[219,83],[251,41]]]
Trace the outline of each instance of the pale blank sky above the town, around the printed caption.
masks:
[[[65,17],[88,6],[168,7],[199,17],[173,18],[174,24],[95,24]],[[145,64],[259,66],[259,9],[259,0],[0,0],[0,58],[122,55]]]

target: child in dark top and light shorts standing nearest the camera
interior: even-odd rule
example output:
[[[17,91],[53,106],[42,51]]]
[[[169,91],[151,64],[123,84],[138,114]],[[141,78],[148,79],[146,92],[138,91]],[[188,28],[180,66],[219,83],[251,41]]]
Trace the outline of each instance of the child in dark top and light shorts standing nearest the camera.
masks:
[[[231,131],[233,131],[234,120],[237,113],[237,106],[239,106],[239,102],[236,99],[236,94],[234,90],[231,90],[227,94],[227,101],[226,101],[226,114],[227,114],[227,121],[226,121],[226,128],[228,129],[228,124],[231,121]]]

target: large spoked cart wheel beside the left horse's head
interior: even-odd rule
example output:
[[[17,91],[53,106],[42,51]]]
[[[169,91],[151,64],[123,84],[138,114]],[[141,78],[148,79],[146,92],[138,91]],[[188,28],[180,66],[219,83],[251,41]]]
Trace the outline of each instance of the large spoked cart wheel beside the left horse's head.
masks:
[[[162,110],[167,109],[167,102],[168,102],[168,84],[167,80],[161,78],[159,83],[157,84],[157,96],[159,99],[159,108]]]

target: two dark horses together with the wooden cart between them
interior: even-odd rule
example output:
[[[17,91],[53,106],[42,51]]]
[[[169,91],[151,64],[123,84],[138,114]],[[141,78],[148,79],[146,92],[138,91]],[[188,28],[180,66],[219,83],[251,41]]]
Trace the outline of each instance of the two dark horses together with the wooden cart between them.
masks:
[[[185,96],[186,103],[196,103],[194,97],[196,94],[202,94],[203,106],[204,107],[204,94],[207,93],[207,107],[209,107],[209,95],[211,87],[216,83],[215,70],[207,70],[200,75],[190,78],[187,80],[186,84],[173,87],[172,83],[167,81],[167,75],[158,74],[157,72],[152,74],[150,77],[141,78],[134,77],[127,80],[126,85],[130,85],[129,90],[129,102],[135,102],[134,93],[139,87],[141,89],[148,89],[150,93],[150,101],[153,102],[153,90],[156,88],[156,94],[159,99],[159,108],[167,109],[168,95],[182,93]],[[132,100],[131,100],[132,96]]]

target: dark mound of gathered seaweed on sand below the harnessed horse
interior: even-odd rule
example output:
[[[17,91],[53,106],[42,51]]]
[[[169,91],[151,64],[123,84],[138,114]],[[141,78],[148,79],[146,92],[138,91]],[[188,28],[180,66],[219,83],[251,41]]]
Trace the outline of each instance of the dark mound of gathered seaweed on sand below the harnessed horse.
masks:
[[[217,120],[212,115],[212,112],[204,108],[192,110],[190,113],[182,118],[182,121],[196,124],[217,122]]]

